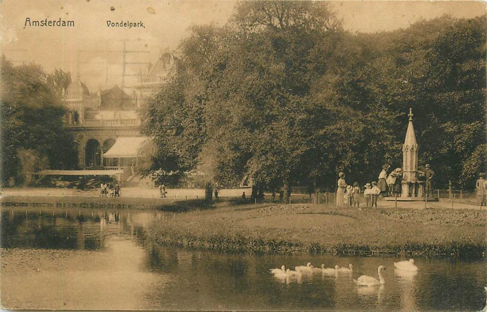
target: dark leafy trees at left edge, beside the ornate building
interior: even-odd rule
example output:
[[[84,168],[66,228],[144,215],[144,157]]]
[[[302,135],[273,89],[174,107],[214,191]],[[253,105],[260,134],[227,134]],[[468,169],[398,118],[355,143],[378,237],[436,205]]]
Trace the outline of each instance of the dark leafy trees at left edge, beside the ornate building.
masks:
[[[75,144],[64,130],[61,106],[70,75],[49,75],[35,64],[14,66],[5,57],[0,67],[1,181],[25,182],[25,174],[38,169],[73,167]]]

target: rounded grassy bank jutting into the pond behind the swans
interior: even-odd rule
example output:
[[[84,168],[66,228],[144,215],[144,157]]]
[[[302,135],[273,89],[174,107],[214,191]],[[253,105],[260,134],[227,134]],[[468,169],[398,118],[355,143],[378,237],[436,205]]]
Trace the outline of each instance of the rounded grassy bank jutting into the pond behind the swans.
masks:
[[[486,211],[221,206],[153,225],[160,244],[224,252],[485,258]]]

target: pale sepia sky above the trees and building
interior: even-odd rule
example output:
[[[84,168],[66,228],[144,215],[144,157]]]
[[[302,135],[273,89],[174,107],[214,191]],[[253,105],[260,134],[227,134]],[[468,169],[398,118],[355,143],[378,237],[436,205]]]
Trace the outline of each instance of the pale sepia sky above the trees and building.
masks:
[[[34,62],[47,72],[76,73],[96,91],[121,84],[123,46],[127,74],[138,74],[164,51],[174,51],[188,27],[224,25],[233,0],[1,0],[0,49],[14,64]],[[391,31],[449,14],[472,18],[486,13],[484,1],[330,1],[352,32]],[[73,20],[75,27],[25,27],[31,20]],[[112,28],[107,21],[143,22],[145,28]],[[125,43],[124,43],[125,40]],[[126,85],[137,78],[127,77]]]

